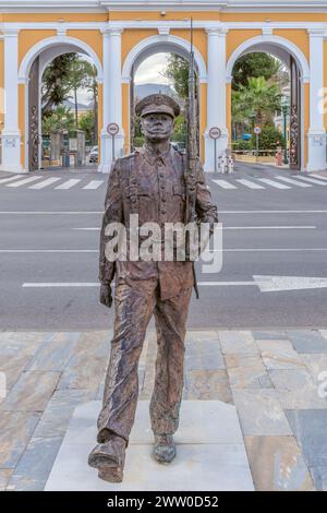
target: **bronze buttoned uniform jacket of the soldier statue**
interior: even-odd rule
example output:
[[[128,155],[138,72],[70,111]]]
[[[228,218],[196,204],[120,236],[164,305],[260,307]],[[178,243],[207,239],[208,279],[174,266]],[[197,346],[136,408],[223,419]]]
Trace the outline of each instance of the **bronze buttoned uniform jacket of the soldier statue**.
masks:
[[[110,262],[105,254],[110,239],[105,235],[109,223],[119,222],[129,228],[130,214],[138,214],[140,226],[156,222],[184,222],[186,188],[184,181],[185,156],[171,145],[166,154],[154,154],[146,145],[140,152],[117,159],[110,170],[100,232],[99,281],[110,284],[126,279],[157,278],[161,299],[179,295],[195,285],[194,263],[191,261],[120,261]],[[198,164],[196,186],[196,220],[218,222],[202,166]],[[162,248],[164,250],[164,248]]]

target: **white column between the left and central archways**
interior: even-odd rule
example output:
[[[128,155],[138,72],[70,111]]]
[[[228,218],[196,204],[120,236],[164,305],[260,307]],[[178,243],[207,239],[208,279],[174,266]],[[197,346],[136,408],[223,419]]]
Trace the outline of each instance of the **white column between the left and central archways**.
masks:
[[[121,87],[121,34],[122,29],[104,31],[104,127],[101,129],[101,157],[98,170],[109,172],[112,163],[112,139],[107,132],[109,123],[119,126],[114,136],[114,155],[123,155],[124,133],[122,129]]]

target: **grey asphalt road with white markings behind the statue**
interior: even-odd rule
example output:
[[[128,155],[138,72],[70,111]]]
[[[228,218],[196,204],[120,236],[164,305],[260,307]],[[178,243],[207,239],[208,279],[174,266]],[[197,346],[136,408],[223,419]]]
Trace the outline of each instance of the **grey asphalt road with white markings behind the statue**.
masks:
[[[17,181],[0,175],[0,330],[107,329],[113,312],[98,302],[92,284],[108,177],[35,177],[41,178],[9,187]],[[31,188],[48,178],[58,180]],[[327,180],[314,183],[288,169],[245,165],[232,176],[207,179],[222,223],[222,269],[204,274],[197,265],[201,299],[193,295],[189,326],[327,327]],[[68,180],[80,181],[56,189]],[[310,277],[325,282],[299,279]],[[272,287],[261,287],[261,281]]]

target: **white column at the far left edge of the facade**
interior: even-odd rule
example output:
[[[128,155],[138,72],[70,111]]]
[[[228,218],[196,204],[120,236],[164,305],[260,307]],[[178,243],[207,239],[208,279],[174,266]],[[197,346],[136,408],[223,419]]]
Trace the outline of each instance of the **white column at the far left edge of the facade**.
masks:
[[[19,31],[5,29],[4,39],[4,124],[1,133],[1,169],[22,172],[19,130]]]

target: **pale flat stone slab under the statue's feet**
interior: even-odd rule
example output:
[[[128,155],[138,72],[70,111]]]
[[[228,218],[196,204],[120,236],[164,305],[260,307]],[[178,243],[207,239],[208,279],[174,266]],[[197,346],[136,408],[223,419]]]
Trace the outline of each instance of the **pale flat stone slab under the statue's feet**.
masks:
[[[177,457],[160,465],[152,457],[153,433],[148,402],[140,401],[124,479],[110,484],[87,465],[96,443],[100,402],[78,406],[46,485],[46,491],[222,491],[253,490],[243,437],[235,407],[220,401],[184,401],[174,436]]]

